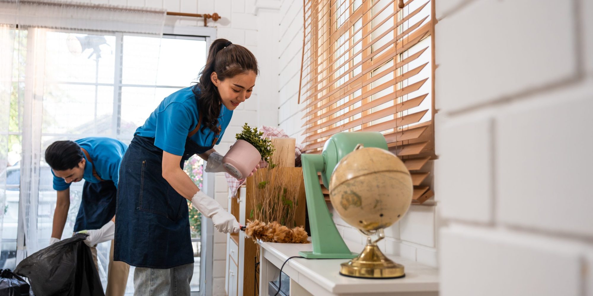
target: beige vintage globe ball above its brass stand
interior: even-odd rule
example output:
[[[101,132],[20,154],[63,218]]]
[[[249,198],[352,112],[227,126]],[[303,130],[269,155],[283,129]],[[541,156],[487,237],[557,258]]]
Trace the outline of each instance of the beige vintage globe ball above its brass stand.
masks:
[[[401,160],[374,147],[346,155],[331,175],[333,208],[347,223],[372,232],[396,223],[412,201],[412,177]]]

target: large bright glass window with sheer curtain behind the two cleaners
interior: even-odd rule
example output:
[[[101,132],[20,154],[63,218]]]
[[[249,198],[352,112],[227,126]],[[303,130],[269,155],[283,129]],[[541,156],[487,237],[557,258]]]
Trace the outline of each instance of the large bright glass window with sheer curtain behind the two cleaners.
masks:
[[[30,198],[27,220],[27,251],[36,252],[49,244],[56,192],[52,173],[43,152],[56,140],[81,137],[113,137],[129,144],[138,126],[162,99],[177,89],[190,86],[206,62],[205,37],[163,36],[162,38],[89,31],[28,28],[12,30],[15,50],[12,76],[9,131],[7,198],[0,227],[2,244],[0,269],[17,264],[17,231],[20,196]],[[32,50],[32,52],[31,52]],[[31,63],[35,62],[32,67]],[[20,192],[20,160],[24,153],[23,117],[34,114],[25,105],[27,83],[35,79],[42,91],[40,110],[40,156],[36,192]],[[27,110],[29,109],[29,110]],[[27,113],[28,112],[28,113]],[[33,127],[34,128],[34,127]],[[26,140],[26,139],[25,139]],[[39,146],[38,146],[39,147]],[[202,159],[188,160],[186,172],[197,185],[202,181]],[[81,201],[82,182],[71,185],[71,205],[63,239],[71,236]],[[35,207],[33,207],[35,205]],[[193,210],[193,211],[192,211]],[[192,289],[199,289],[200,217],[190,210],[192,242],[196,264]],[[34,233],[31,234],[31,233]],[[97,246],[99,274],[106,287],[110,243]],[[133,268],[127,291],[133,292]]]

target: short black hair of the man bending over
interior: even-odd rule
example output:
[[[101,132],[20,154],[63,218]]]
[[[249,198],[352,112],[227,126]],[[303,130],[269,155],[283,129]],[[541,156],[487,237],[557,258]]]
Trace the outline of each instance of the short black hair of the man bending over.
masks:
[[[74,141],[55,141],[45,150],[45,162],[54,170],[75,168],[83,158],[80,146]]]

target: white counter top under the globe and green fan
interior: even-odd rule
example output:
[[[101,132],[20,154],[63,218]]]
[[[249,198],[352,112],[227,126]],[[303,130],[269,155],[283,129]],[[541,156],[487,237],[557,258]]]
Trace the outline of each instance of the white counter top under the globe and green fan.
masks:
[[[289,257],[298,256],[299,251],[313,249],[312,244],[264,242],[259,242],[259,244],[262,247],[262,258],[265,257],[278,268]],[[355,249],[358,246],[349,247],[352,252],[362,250],[362,246],[359,249]],[[388,257],[394,262],[404,265],[406,271],[404,278],[362,279],[340,275],[340,263],[347,262],[347,259],[293,258],[286,263],[282,271],[303,287],[311,282],[315,283],[316,286],[327,290],[330,293],[328,295],[369,294],[371,291],[372,293],[438,291],[438,269],[397,256]]]

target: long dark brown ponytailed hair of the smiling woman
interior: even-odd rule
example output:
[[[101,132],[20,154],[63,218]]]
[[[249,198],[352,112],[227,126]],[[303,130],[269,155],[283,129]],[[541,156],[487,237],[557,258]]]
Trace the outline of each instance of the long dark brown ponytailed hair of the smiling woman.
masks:
[[[202,93],[198,95],[194,91],[196,98],[199,98],[198,108],[200,117],[202,117],[202,130],[208,127],[215,133],[220,132],[218,117],[221,111],[221,96],[210,78],[212,72],[216,72],[218,80],[224,81],[250,71],[256,75],[259,73],[256,57],[248,49],[238,44],[232,44],[226,39],[216,39],[212,42],[208,50],[206,65],[200,71],[197,85]]]

